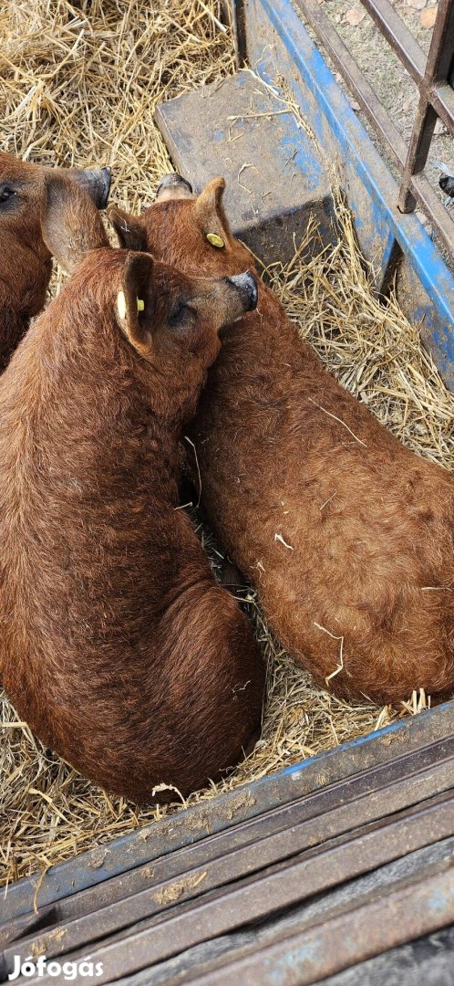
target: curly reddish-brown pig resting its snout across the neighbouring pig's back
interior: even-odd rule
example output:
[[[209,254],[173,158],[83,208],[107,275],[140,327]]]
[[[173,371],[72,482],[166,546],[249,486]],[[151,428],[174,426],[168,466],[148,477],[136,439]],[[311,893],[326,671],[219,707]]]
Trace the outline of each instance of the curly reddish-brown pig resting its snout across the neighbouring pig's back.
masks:
[[[260,727],[262,661],[177,495],[181,428],[257,285],[111,249],[63,192],[43,235],[77,269],[0,381],[3,679],[44,743],[147,802],[200,788]]]

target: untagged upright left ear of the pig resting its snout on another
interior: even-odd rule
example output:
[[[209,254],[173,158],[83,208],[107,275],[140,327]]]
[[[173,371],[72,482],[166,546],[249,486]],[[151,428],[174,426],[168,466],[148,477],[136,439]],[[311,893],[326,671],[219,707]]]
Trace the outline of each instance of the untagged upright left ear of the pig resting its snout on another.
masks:
[[[45,246],[68,274],[88,250],[108,246],[90,195],[62,176],[46,178],[41,233]]]

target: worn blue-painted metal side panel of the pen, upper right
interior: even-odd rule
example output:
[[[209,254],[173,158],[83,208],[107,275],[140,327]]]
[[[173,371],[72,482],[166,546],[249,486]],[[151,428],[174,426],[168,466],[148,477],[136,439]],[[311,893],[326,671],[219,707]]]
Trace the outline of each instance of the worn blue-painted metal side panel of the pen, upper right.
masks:
[[[338,161],[365,255],[383,267],[390,238],[401,246],[425,293],[413,299],[410,291],[404,308],[409,317],[422,321],[424,342],[447,386],[454,389],[454,277],[440,253],[419,219],[399,212],[394,178],[290,0],[250,0],[246,35],[249,60],[258,74],[275,85],[284,76],[291,86],[313,130],[314,153],[318,150]]]

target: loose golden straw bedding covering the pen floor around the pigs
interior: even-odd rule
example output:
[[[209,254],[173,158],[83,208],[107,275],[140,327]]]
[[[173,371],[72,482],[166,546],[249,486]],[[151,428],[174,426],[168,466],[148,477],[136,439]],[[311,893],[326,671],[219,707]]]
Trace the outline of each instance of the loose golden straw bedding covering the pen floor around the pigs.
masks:
[[[216,0],[22,0],[0,5],[0,146],[34,161],[110,164],[113,197],[150,202],[169,170],[154,122],[157,102],[233,70]],[[373,298],[351,217],[334,248],[270,273],[290,317],[338,379],[416,452],[454,465],[454,399],[397,304]],[[308,236],[315,231],[308,231]],[[203,533],[203,537],[206,534]],[[347,704],[294,669],[253,596],[248,608],[269,668],[263,736],[218,787],[187,804],[352,740],[424,707],[400,712]],[[162,817],[111,798],[33,740],[2,697],[0,881],[42,872],[76,852]],[[180,802],[165,809],[180,807]]]

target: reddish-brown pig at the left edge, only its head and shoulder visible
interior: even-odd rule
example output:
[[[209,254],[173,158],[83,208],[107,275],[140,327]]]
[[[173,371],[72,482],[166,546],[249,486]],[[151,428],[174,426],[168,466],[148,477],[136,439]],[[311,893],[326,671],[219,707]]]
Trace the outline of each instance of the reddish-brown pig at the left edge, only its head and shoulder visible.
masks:
[[[68,178],[105,208],[108,168],[43,168],[0,152],[0,373],[44,305],[51,273],[41,226],[45,189]]]

